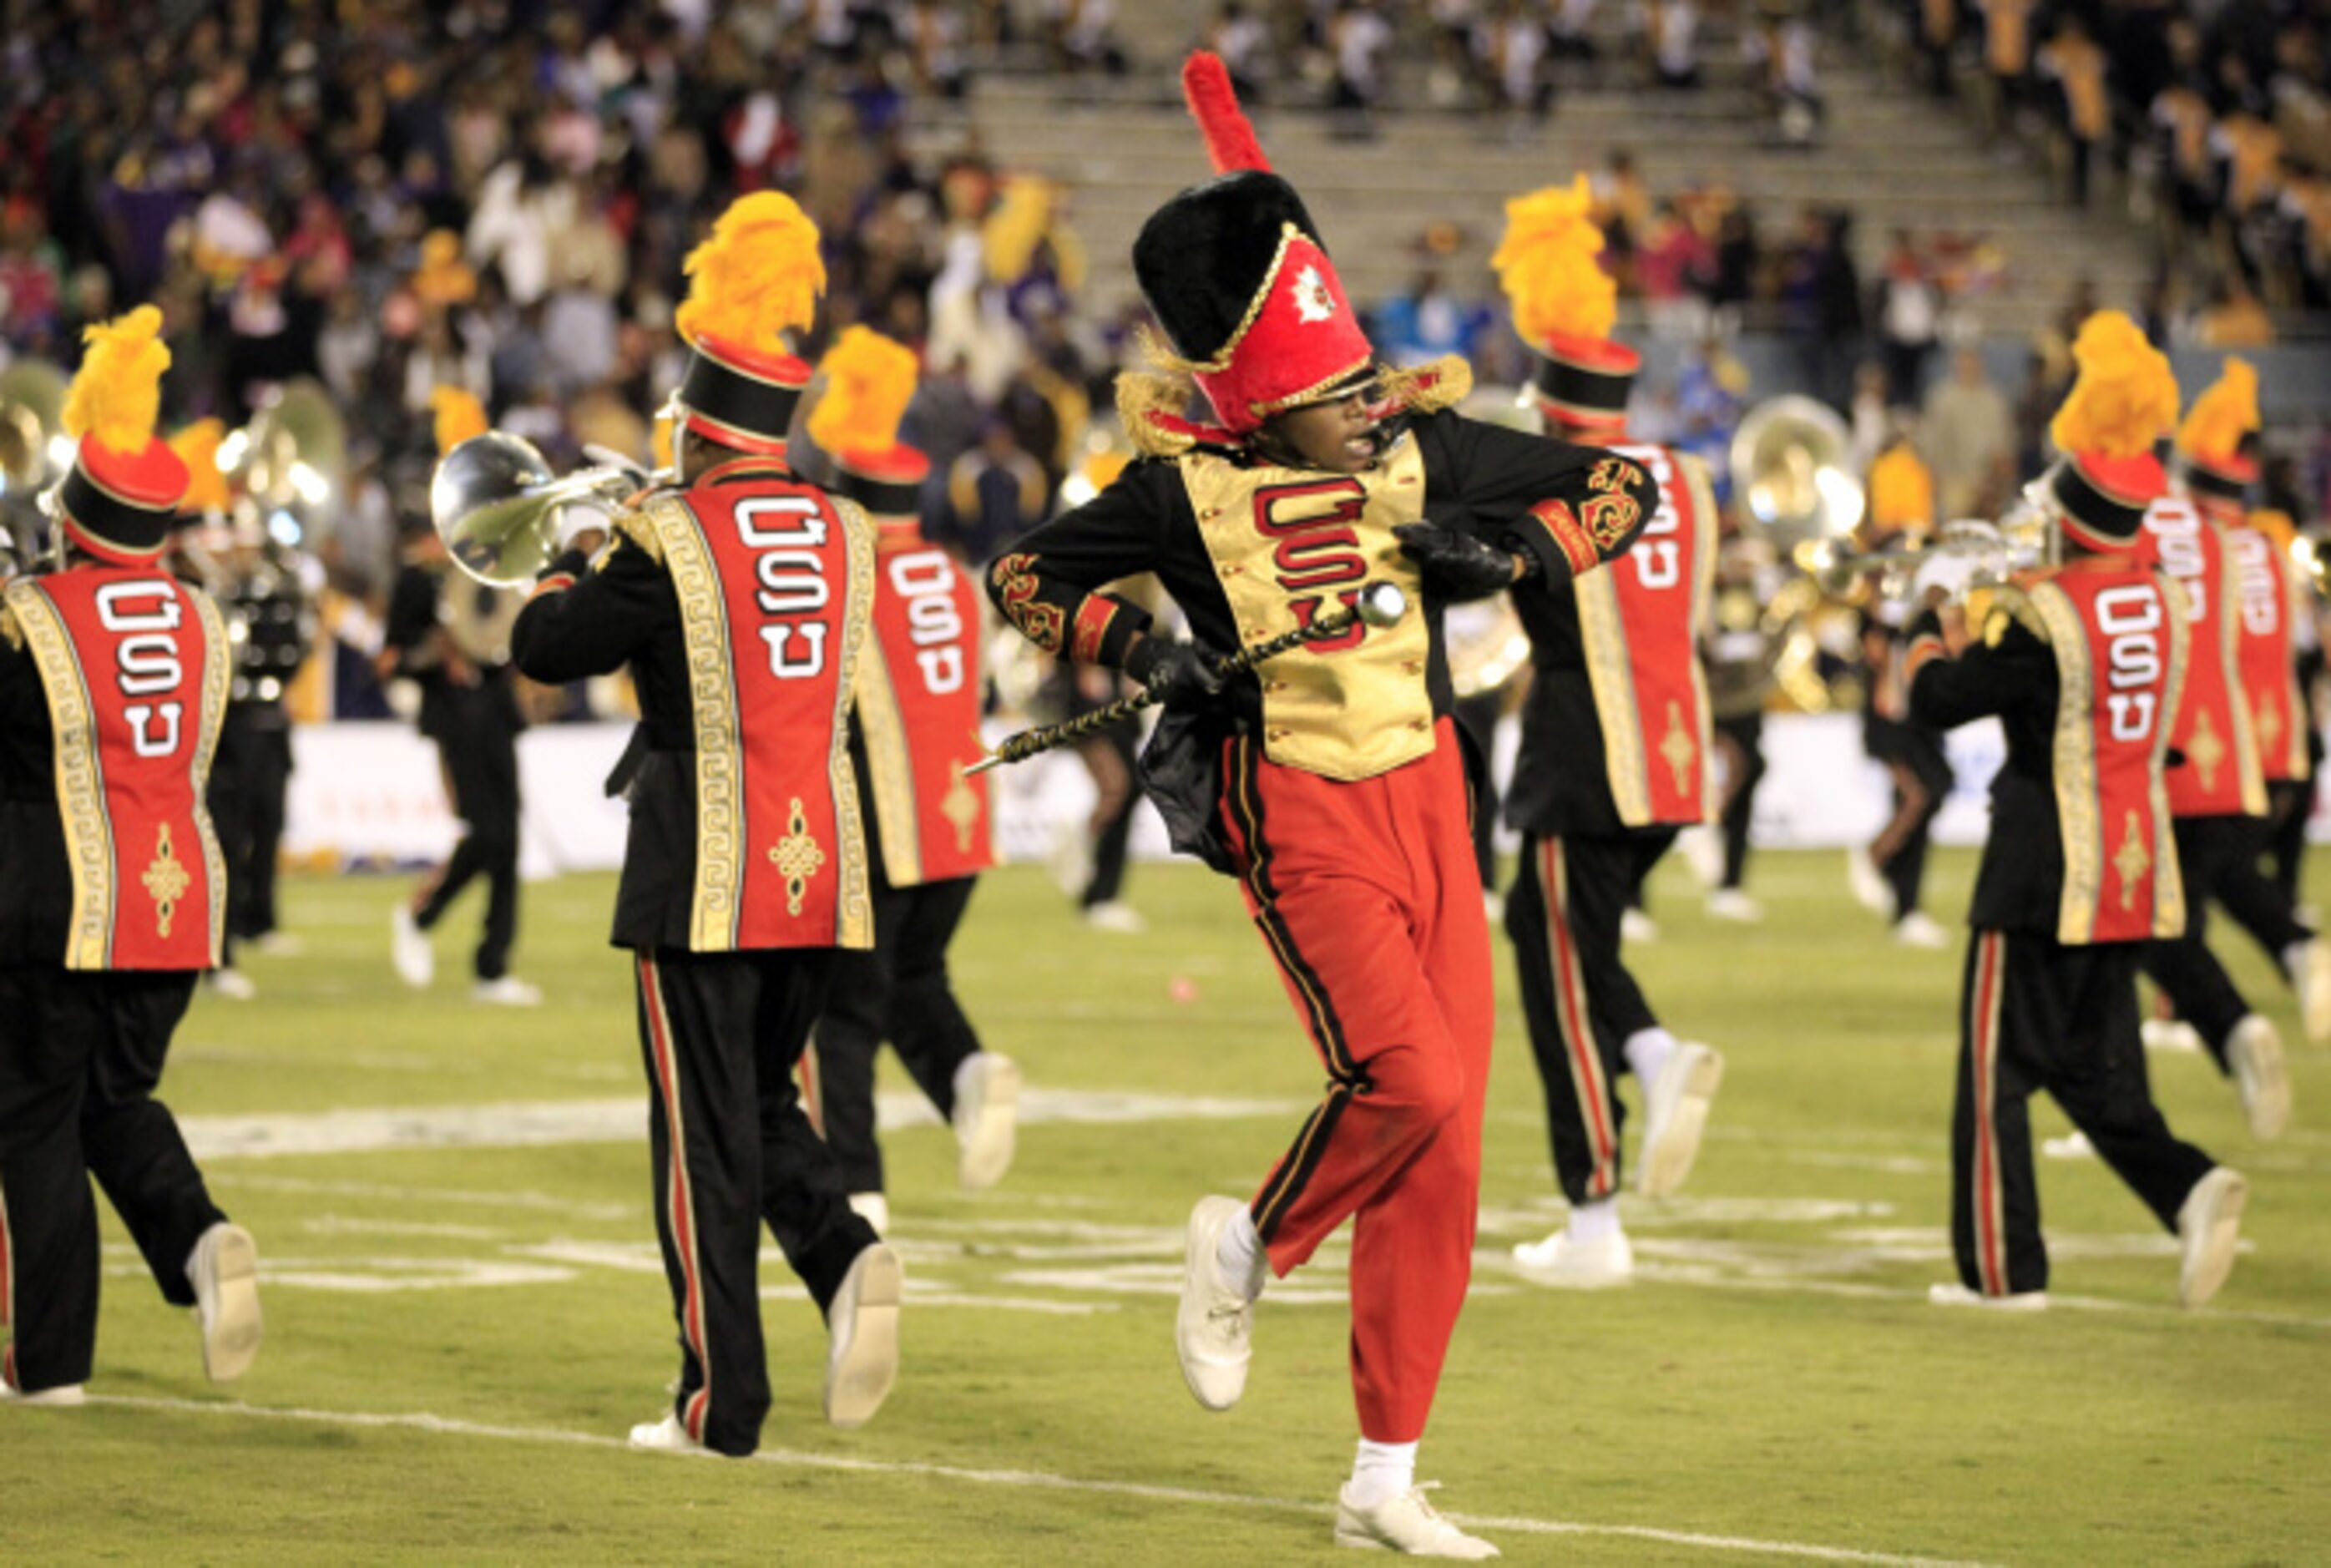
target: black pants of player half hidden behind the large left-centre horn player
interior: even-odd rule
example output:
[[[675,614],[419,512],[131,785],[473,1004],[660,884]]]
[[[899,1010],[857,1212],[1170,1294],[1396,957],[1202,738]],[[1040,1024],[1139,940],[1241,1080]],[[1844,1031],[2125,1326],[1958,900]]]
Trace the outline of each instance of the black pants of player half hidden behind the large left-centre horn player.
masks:
[[[939,1116],[956,1114],[956,1069],[979,1051],[979,1032],[956,1002],[946,944],[963,925],[977,878],[921,888],[874,885],[874,951],[837,953],[818,1018],[814,1097],[825,1146],[851,1193],[879,1193],[874,1053],[888,1039]]]

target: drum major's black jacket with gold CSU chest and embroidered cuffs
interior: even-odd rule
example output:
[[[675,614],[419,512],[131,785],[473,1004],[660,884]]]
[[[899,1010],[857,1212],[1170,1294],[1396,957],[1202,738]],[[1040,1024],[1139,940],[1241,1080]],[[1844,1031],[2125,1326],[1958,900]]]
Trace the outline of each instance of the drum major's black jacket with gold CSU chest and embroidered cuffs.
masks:
[[[1422,594],[1396,527],[1431,522],[1529,550],[1543,573],[1515,599],[1569,599],[1571,578],[1622,555],[1655,503],[1648,475],[1622,457],[1429,412],[1366,473],[1277,468],[1217,447],[1138,461],[991,561],[988,596],[1037,645],[1117,664],[1149,627],[1138,606],[1100,592],[1119,578],[1156,573],[1212,652],[1303,627],[1366,582],[1394,582],[1420,608],[1273,659],[1233,685],[1221,720],[1259,736],[1270,764],[1357,781],[1429,755],[1455,704],[1441,603]],[[1219,778],[1196,762],[1219,757],[1219,736],[1196,722],[1159,734],[1166,748],[1145,762],[1145,783],[1175,843],[1226,864],[1205,839]],[[1200,771],[1161,785],[1172,753]]]

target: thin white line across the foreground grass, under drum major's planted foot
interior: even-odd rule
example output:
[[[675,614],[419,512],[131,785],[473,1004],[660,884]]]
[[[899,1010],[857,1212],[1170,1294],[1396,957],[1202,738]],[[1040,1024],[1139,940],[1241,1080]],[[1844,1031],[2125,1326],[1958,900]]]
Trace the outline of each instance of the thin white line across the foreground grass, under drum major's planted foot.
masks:
[[[583,1449],[613,1449],[632,1454],[622,1438],[599,1433],[571,1433],[550,1426],[490,1426],[485,1421],[462,1421],[427,1412],[394,1414],[368,1410],[298,1410],[287,1405],[226,1405],[207,1400],[172,1400],[121,1393],[93,1393],[91,1405],[114,1410],[161,1410],[170,1414],[245,1417],[252,1421],[301,1421],[310,1426],[354,1426],[364,1431],[410,1431],[438,1438],[480,1438],[494,1442],[541,1442]],[[664,1463],[671,1456],[641,1454],[632,1463]],[[685,1454],[681,1458],[718,1458],[716,1454]],[[853,1454],[802,1454],[795,1449],[760,1449],[744,1463],[779,1465],[783,1470],[839,1470],[848,1475],[904,1475],[937,1482],[967,1482],[974,1486],[1026,1486],[1033,1491],[1072,1491],[1107,1498],[1140,1498],[1145,1503],[1189,1503],[1198,1507],[1249,1507],[1280,1514],[1310,1514],[1324,1519],[1333,1505],[1303,1503],[1296,1498],[1266,1498],[1240,1491],[1203,1491],[1196,1486],[1149,1486],[1142,1482],[1103,1482],[1082,1475],[1054,1475],[1049,1470],[974,1470],[970,1465],[939,1465],[916,1458],[860,1458]],[[1531,1519],[1492,1514],[1443,1514],[1457,1526],[1473,1531],[1506,1531],[1513,1535],[1613,1535],[1622,1540],[1655,1540],[1667,1547],[1699,1547],[1706,1552],[1748,1552],[1760,1556],[1802,1556],[1823,1563],[1869,1563],[1874,1568],[1984,1568],[1972,1561],[1904,1556],[1895,1552],[1862,1552],[1855,1547],[1823,1547],[1802,1540],[1755,1540],[1748,1535],[1706,1535],[1699,1531],[1667,1531],[1648,1524],[1580,1524],[1576,1519]]]

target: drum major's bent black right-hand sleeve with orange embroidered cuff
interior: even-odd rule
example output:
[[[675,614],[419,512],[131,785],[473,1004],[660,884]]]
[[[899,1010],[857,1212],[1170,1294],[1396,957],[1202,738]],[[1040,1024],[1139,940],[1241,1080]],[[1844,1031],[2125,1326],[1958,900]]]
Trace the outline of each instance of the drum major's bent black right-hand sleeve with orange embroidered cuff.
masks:
[[[1420,419],[1417,438],[1431,485],[1464,501],[1473,534],[1538,561],[1536,592],[1625,555],[1660,508],[1650,473],[1604,447],[1452,412]]]

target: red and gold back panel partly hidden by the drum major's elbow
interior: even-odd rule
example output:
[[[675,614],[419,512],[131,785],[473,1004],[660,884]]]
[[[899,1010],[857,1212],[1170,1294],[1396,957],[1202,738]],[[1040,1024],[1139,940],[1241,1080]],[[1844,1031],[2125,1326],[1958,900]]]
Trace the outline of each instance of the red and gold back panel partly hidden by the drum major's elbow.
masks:
[[[1578,631],[1618,820],[1706,822],[1716,785],[1699,629],[1716,589],[1706,471],[1667,447],[1613,447],[1660,487],[1660,510],[1622,559],[1583,573]]]

